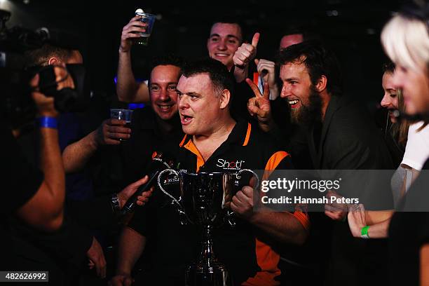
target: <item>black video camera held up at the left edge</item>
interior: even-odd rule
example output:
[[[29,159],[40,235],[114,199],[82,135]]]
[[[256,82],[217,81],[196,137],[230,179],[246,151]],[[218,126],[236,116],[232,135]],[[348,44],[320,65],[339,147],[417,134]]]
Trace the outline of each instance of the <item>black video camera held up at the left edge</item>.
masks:
[[[6,22],[11,13],[0,9],[0,114],[13,129],[25,129],[34,123],[36,106],[32,100],[29,81],[39,74],[39,90],[48,97],[54,97],[59,112],[83,111],[89,101],[86,86],[86,72],[82,64],[67,64],[67,76],[74,81],[74,89],[57,90],[53,66],[27,67],[27,53],[43,45],[77,49],[76,37],[66,32],[41,27],[25,29],[12,27]],[[87,92],[88,91],[88,92]]]

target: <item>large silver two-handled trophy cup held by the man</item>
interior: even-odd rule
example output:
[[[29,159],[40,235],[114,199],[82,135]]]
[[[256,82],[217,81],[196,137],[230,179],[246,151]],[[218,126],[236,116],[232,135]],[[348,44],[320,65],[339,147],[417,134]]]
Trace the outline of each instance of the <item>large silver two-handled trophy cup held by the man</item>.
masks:
[[[212,229],[222,225],[225,221],[231,226],[233,212],[226,208],[236,194],[235,182],[243,172],[250,172],[257,179],[254,189],[259,186],[259,179],[255,172],[243,169],[236,173],[200,172],[186,173],[172,169],[163,170],[158,175],[158,186],[165,195],[172,198],[177,210],[186,221],[203,228],[202,250],[198,261],[186,268],[186,286],[226,286],[232,285],[231,277],[224,264],[217,261],[213,252]],[[175,174],[179,178],[180,198],[165,191],[161,185],[161,177],[165,173]]]

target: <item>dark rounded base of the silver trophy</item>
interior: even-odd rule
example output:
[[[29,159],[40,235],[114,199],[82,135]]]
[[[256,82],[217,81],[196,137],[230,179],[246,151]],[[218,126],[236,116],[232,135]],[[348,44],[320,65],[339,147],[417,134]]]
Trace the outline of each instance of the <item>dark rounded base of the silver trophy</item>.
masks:
[[[216,261],[207,264],[191,264],[186,268],[186,286],[233,286],[223,264]]]

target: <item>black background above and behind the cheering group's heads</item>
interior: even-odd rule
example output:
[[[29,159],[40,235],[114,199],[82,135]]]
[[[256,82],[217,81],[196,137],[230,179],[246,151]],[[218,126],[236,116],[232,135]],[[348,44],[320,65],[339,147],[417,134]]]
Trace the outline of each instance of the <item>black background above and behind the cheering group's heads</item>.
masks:
[[[329,45],[343,68],[346,93],[371,108],[381,100],[381,65],[386,56],[380,32],[404,1],[37,1],[0,0],[11,11],[8,27],[48,27],[79,36],[79,46],[92,74],[93,90],[114,97],[114,76],[121,30],[136,8],[158,15],[148,47],[132,50],[137,78],[147,77],[154,55],[175,52],[185,58],[207,55],[212,20],[229,15],[247,27],[246,39],[261,33],[258,58],[273,59],[282,31],[304,25]],[[90,7],[96,6],[96,7]]]

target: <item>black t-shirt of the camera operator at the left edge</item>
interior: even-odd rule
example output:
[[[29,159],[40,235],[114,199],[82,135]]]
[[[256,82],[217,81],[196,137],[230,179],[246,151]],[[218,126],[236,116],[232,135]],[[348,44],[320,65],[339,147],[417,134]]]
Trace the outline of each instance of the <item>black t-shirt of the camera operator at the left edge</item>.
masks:
[[[4,163],[1,172],[1,183],[3,184],[1,196],[4,203],[0,208],[0,270],[6,270],[5,267],[8,266],[8,259],[11,256],[8,216],[34,196],[43,181],[43,174],[22,155],[11,130],[0,127],[0,134],[3,142],[0,158]]]

